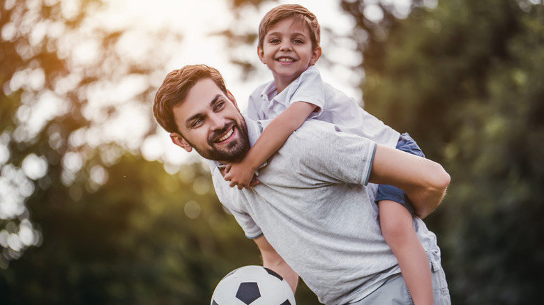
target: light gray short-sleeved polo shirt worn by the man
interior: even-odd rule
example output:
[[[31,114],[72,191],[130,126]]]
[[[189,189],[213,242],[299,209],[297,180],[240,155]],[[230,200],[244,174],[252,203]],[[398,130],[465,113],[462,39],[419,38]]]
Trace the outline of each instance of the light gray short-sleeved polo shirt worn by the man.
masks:
[[[259,124],[245,119],[250,142]],[[358,301],[393,274],[398,262],[386,244],[374,203],[376,185],[366,185],[376,144],[307,120],[268,164],[259,185],[229,187],[211,162],[219,200],[248,238],[262,234],[325,304]],[[439,256],[435,234],[415,219],[423,247]]]

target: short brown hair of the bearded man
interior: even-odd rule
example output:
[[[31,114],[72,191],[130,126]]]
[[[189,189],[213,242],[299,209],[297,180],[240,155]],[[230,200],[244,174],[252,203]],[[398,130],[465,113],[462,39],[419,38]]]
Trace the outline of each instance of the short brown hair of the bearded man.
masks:
[[[190,89],[202,79],[211,79],[225,95],[227,94],[225,80],[219,71],[207,65],[186,65],[169,72],[158,88],[153,103],[153,115],[167,132],[179,133],[173,109],[186,99]]]

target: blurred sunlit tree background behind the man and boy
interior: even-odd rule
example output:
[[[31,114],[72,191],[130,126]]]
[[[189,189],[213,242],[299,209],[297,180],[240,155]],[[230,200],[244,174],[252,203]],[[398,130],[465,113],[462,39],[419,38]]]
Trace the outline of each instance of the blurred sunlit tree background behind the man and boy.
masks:
[[[425,222],[453,304],[539,303],[543,1],[290,2],[322,24],[324,80],[451,174]],[[260,264],[151,104],[167,72],[207,63],[244,108],[271,79],[257,27],[279,3],[0,0],[1,304],[209,304]]]

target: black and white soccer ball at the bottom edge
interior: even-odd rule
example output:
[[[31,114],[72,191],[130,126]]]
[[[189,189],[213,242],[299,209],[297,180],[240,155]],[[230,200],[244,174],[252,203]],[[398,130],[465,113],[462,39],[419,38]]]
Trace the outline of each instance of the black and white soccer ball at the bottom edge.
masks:
[[[235,269],[217,285],[211,305],[295,305],[291,286],[262,266]]]

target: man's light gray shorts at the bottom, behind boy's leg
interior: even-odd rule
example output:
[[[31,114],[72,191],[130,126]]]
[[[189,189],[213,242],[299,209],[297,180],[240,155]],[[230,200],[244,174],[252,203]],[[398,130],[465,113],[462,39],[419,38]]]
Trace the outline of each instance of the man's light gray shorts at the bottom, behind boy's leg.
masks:
[[[450,291],[448,290],[448,283],[446,283],[446,275],[444,269],[440,265],[440,260],[432,258],[429,255],[431,276],[432,276],[432,290],[434,292],[433,299],[435,305],[451,305]],[[388,304],[410,304],[413,305],[410,293],[405,283],[405,279],[400,274],[391,276],[384,285],[380,286],[377,290],[370,295],[361,299],[361,301],[351,303],[350,305],[388,305]]]

